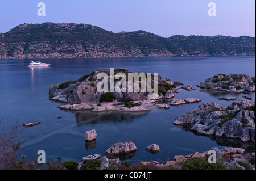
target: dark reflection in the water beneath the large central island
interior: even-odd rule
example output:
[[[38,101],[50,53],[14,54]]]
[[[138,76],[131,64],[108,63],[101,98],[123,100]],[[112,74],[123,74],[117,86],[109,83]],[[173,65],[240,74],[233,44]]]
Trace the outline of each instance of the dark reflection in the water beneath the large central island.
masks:
[[[85,124],[96,124],[104,122],[118,123],[120,121],[131,122],[136,117],[143,116],[148,111],[143,112],[117,112],[117,111],[105,111],[105,112],[92,112],[90,110],[83,111],[68,111],[74,113],[76,117],[76,123],[78,126]]]

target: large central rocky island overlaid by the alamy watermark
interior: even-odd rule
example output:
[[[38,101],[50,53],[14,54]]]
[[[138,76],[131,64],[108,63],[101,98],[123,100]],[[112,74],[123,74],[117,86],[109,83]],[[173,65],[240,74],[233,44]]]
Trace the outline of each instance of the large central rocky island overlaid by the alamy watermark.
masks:
[[[49,87],[49,99],[57,102],[69,103],[60,106],[63,110],[92,110],[92,112],[101,111],[147,111],[152,108],[168,109],[169,106],[165,103],[159,103],[159,100],[171,100],[174,98],[177,89],[178,81],[175,84],[169,79],[162,79],[158,75],[158,94],[155,92],[98,92],[97,84],[100,80],[97,75],[104,72],[110,79],[109,71],[93,71],[91,74],[76,80],[64,82],[61,84],[51,85]],[[115,73],[124,73],[128,76],[129,70],[115,69]],[[141,83],[141,82],[140,82]],[[134,84],[134,82],[133,82]],[[153,80],[152,80],[153,84]],[[126,90],[128,82],[126,83]],[[154,94],[154,99],[148,99],[149,94]]]

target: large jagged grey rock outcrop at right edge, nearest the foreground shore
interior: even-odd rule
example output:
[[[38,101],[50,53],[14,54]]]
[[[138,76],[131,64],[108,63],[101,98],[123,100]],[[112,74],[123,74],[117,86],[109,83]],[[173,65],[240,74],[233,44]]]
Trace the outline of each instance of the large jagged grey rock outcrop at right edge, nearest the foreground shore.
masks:
[[[255,143],[255,103],[247,99],[237,100],[227,107],[215,102],[204,103],[177,117],[174,125],[189,125],[191,131],[203,135]]]

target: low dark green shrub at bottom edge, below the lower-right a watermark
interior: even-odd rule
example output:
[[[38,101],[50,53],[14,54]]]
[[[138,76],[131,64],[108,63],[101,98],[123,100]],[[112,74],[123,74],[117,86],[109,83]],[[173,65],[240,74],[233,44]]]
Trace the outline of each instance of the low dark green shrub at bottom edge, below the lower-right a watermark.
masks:
[[[183,170],[226,170],[222,162],[208,163],[205,158],[192,158],[182,163]]]

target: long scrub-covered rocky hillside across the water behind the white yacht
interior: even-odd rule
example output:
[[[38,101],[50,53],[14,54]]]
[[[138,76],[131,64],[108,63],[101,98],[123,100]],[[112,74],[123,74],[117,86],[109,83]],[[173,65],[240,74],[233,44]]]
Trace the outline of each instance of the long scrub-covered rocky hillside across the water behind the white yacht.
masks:
[[[255,37],[113,33],[89,24],[21,24],[0,33],[0,59],[255,55]]]

